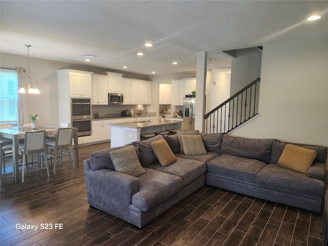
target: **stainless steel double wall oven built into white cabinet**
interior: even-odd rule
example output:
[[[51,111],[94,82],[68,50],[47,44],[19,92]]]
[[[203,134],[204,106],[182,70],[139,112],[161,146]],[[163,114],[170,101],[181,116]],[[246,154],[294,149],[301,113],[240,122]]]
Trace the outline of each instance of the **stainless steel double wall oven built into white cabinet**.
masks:
[[[77,127],[78,136],[91,135],[91,99],[71,99],[72,127]]]

